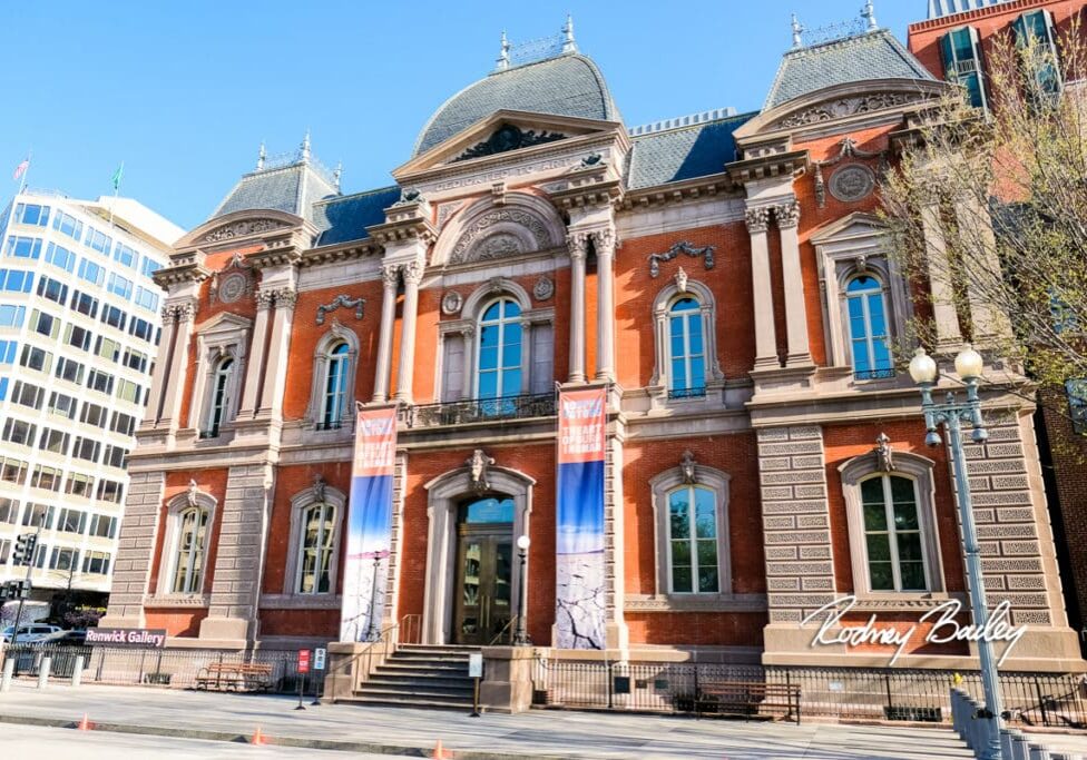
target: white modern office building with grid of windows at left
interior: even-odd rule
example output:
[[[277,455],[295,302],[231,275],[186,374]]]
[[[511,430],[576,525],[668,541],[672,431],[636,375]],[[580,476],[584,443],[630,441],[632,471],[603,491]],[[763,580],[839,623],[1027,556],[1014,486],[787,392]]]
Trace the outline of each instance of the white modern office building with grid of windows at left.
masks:
[[[0,217],[0,581],[37,533],[35,599],[105,603],[182,233],[128,198],[27,190]]]

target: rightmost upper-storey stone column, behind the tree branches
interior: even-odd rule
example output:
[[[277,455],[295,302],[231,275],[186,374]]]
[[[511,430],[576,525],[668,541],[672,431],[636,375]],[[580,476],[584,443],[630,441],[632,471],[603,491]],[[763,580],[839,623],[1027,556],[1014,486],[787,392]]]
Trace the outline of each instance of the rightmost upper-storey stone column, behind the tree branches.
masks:
[[[1006,302],[1005,282],[989,210],[977,198],[966,195],[954,201],[954,216],[962,243],[973,343],[985,347],[1007,342],[1011,337],[1011,323],[999,308]]]

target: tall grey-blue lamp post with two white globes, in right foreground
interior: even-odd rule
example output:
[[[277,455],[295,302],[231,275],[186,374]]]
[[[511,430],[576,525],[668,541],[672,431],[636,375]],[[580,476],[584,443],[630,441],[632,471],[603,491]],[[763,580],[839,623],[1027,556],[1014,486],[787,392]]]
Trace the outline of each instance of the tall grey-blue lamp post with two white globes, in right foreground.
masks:
[[[956,394],[948,392],[947,401],[938,404],[932,401],[932,387],[939,377],[939,369],[931,356],[918,348],[910,361],[910,376],[921,387],[921,408],[924,411],[924,424],[928,434],[924,436],[927,446],[939,446],[941,443],[938,426],[943,425],[951,444],[951,461],[954,468],[954,484],[959,492],[959,519],[962,523],[962,543],[967,560],[967,574],[970,579],[970,606],[973,624],[985,630],[989,619],[986,606],[985,580],[981,574],[981,554],[978,547],[978,531],[973,524],[973,506],[970,503],[970,482],[967,477],[967,461],[962,453],[962,423],[971,427],[970,440],[983,443],[989,437],[981,417],[981,399],[978,397],[978,381],[985,367],[981,355],[969,344],[954,357],[954,371],[967,386],[966,402],[960,402]],[[997,667],[992,655],[992,643],[985,636],[978,639],[978,659],[981,662],[981,684],[985,690],[986,707],[979,718],[992,721],[988,734],[988,746],[981,748],[978,756],[982,760],[1001,760],[1000,749],[1000,688],[997,681]]]

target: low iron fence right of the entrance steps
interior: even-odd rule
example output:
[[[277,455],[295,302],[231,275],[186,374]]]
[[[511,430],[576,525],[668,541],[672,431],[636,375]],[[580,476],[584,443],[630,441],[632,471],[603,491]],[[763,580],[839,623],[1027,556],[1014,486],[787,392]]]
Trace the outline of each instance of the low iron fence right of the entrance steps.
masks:
[[[532,681],[537,707],[790,720],[799,717],[783,695],[792,688],[800,689],[803,715],[841,720],[947,723],[952,685],[982,698],[980,673],[933,670],[540,659]],[[741,689],[745,683],[758,688]],[[1081,675],[1001,673],[1000,688],[1010,723],[1087,728]]]

